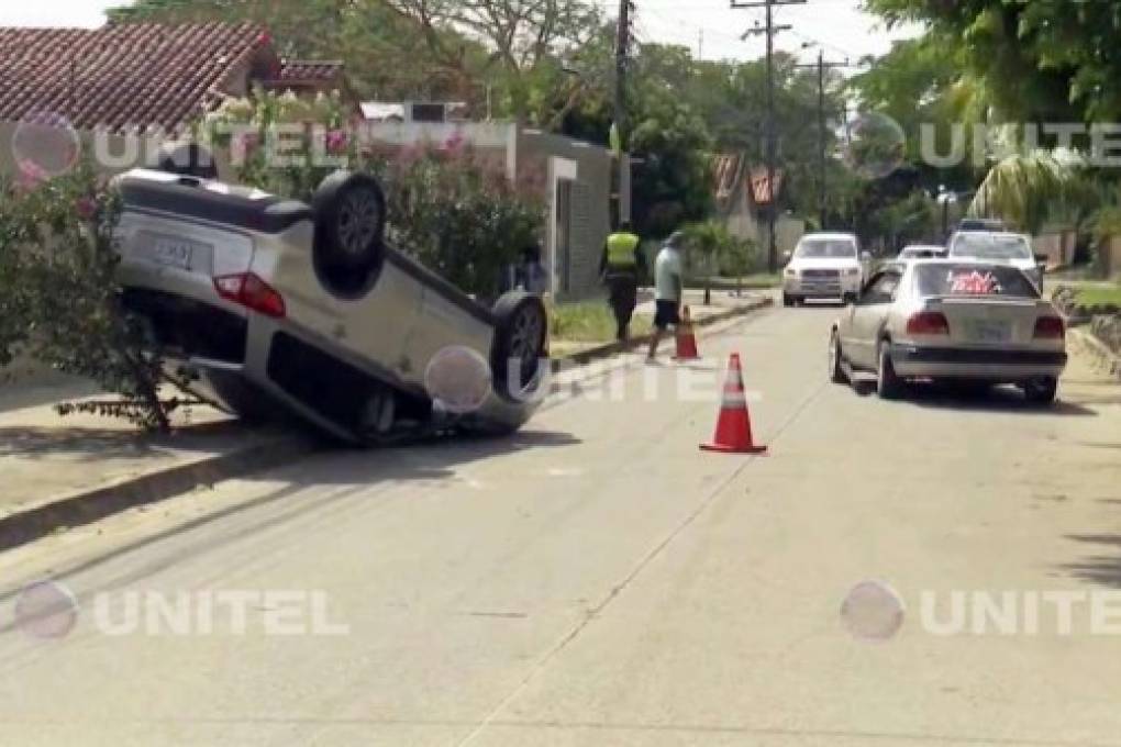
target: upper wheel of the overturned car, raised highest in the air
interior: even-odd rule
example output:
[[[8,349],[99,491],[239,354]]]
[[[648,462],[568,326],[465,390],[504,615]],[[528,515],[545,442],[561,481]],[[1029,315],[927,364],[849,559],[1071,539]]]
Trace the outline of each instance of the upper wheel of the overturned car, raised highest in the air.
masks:
[[[312,198],[316,261],[369,271],[385,256],[386,195],[365,174],[335,171]]]

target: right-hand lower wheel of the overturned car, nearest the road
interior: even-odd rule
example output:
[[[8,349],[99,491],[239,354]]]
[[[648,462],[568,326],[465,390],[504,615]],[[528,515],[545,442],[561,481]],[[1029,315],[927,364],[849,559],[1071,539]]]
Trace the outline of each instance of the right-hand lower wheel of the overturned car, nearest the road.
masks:
[[[541,361],[548,358],[548,312],[539,296],[512,291],[498,299],[493,314],[494,391],[520,401],[538,377]]]

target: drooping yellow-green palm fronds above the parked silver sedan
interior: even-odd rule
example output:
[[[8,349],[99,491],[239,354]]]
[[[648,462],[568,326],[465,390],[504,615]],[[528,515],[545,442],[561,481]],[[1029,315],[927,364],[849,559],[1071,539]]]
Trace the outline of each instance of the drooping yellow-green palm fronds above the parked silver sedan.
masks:
[[[1077,176],[1053,153],[1009,156],[989,171],[969,214],[998,216],[1031,235],[1067,211]]]

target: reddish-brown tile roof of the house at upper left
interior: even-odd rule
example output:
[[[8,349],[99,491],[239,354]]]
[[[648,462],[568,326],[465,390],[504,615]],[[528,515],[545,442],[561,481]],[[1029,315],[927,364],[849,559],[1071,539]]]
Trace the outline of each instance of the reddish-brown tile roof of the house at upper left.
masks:
[[[249,24],[0,28],[0,120],[49,112],[78,129],[173,129],[270,47]]]

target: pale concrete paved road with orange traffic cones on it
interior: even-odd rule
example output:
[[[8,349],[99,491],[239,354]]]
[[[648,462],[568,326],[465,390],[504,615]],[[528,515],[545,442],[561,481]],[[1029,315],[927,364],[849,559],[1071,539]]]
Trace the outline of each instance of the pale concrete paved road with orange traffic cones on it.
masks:
[[[0,744],[1121,745],[1121,636],[1084,609],[921,614],[1121,589],[1121,394],[1076,367],[1053,412],[860,396],[825,383],[833,314],[703,340],[710,379],[743,353],[767,458],[702,455],[713,402],[633,358],[626,401],[585,384],[512,442],[322,455],[7,553]],[[38,641],[10,620],[47,575],[81,613]],[[879,643],[840,614],[869,579],[906,604]],[[138,590],[314,590],[287,609],[319,635],[266,635],[277,598],[244,635],[95,623]]]

